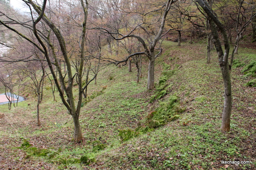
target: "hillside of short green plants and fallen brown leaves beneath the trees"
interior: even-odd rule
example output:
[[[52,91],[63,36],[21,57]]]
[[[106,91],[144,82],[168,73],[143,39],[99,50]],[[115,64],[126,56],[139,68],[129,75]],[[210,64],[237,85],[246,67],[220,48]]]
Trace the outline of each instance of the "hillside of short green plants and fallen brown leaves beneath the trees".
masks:
[[[135,129],[138,122],[153,111],[158,102],[148,103],[153,92],[146,90],[146,67],[140,83],[135,83],[136,71],[108,67],[98,76],[98,84],[90,85],[89,93],[107,86],[104,93],[81,109],[80,122],[84,132],[82,143],[72,142],[72,118],[58,102],[51,102],[51,91],[45,91],[41,104],[42,126],[36,125],[36,103],[21,102],[11,111],[0,105],[1,139],[0,168],[13,169],[256,169],[255,163],[255,88],[246,87],[249,79],[232,71],[233,90],[232,131],[220,132],[223,105],[223,85],[216,54],[205,64],[205,44],[165,42],[164,54],[156,61],[156,80],[163,64],[175,69],[167,81],[172,84],[168,96],[179,97],[186,110],[178,120],[152,132],[120,143],[119,129]],[[240,48],[236,56],[248,63],[255,59],[255,50]],[[111,79],[112,78],[112,79]],[[111,80],[110,80],[111,79]],[[58,95],[56,95],[58,96]],[[26,106],[32,103],[32,106]],[[56,124],[55,124],[56,123]],[[54,159],[29,155],[18,149],[23,138],[37,148],[61,152]],[[105,150],[93,152],[92,142],[99,140]],[[62,163],[60,159],[87,154],[95,157],[90,165]],[[250,160],[247,165],[224,165],[221,160]],[[71,161],[71,159],[70,159]]]

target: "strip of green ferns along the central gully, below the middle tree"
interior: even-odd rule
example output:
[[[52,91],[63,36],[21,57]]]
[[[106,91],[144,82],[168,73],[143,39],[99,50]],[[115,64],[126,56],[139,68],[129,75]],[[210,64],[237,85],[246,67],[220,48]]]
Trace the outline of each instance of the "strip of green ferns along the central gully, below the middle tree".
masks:
[[[172,70],[170,65],[163,63],[162,76],[159,78],[159,83],[156,85],[155,94],[151,96],[149,103],[153,101],[159,101],[166,94],[172,85],[167,85],[167,80],[175,73],[175,69]],[[169,96],[163,102],[159,102],[159,107],[150,112],[147,117],[139,122],[139,126],[135,129],[119,130],[118,136],[121,142],[127,141],[131,138],[138,137],[141,134],[153,131],[154,129],[165,125],[169,121],[179,118],[178,113],[182,113],[184,109],[178,107],[178,97]]]

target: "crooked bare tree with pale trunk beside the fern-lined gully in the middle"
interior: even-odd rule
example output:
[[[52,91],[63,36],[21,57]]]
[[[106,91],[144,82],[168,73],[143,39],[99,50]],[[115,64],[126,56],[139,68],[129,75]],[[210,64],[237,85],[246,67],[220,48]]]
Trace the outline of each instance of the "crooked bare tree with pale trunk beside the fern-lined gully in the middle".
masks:
[[[149,64],[148,64],[148,85],[147,88],[148,90],[152,90],[155,88],[155,59],[162,53],[162,48],[158,48],[158,53],[156,53],[155,51],[155,47],[158,43],[158,41],[165,35],[165,33],[167,33],[168,31],[164,32],[164,27],[165,27],[165,20],[166,20],[166,16],[171,8],[171,5],[173,3],[175,3],[176,0],[168,0],[167,2],[165,2],[164,4],[161,5],[161,8],[153,10],[153,11],[149,11],[149,12],[145,12],[145,14],[143,14],[142,12],[127,12],[125,11],[123,8],[120,8],[120,11],[125,12],[126,14],[141,14],[142,17],[142,23],[136,25],[133,29],[131,29],[130,32],[128,32],[127,34],[122,34],[120,32],[113,32],[112,30],[108,29],[108,28],[103,28],[103,27],[98,27],[97,29],[100,29],[108,34],[110,34],[112,36],[113,39],[115,40],[122,40],[122,39],[126,39],[126,38],[135,38],[137,39],[143,46],[144,51],[143,52],[139,52],[139,53],[133,53],[131,55],[129,55],[128,57],[126,57],[126,59],[120,61],[120,60],[115,60],[112,58],[102,58],[102,60],[114,63],[116,65],[120,64],[120,63],[126,63],[130,57],[135,56],[135,55],[146,55],[149,59]],[[160,14],[161,17],[156,19],[156,23],[159,23],[159,25],[157,25],[157,33],[155,33],[153,31],[153,35],[152,37],[149,35],[149,32],[146,30],[146,28],[154,25],[154,24],[149,24],[145,22],[145,17],[149,14],[152,14],[153,12],[159,12],[162,10],[162,15]],[[159,14],[159,13],[158,13]],[[135,15],[135,16],[136,16]],[[158,22],[159,21],[159,22]],[[138,29],[142,29],[142,30],[146,30],[146,40],[149,42],[148,44],[144,41],[144,39],[140,36],[140,35],[135,35],[133,33],[135,33],[136,30]],[[164,34],[163,34],[164,32]]]

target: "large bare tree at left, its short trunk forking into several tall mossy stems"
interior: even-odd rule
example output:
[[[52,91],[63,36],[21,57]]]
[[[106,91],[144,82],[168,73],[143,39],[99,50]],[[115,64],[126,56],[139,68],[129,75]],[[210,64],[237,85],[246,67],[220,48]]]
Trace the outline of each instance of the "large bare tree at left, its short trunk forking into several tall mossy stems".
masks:
[[[79,56],[79,67],[78,67],[78,72],[75,74],[72,73],[72,66],[71,66],[71,59],[70,56],[68,56],[68,53],[70,51],[69,46],[66,46],[66,44],[69,44],[66,42],[63,36],[63,31],[60,29],[62,28],[61,26],[61,19],[58,22],[58,18],[53,18],[52,17],[52,9],[49,10],[46,7],[46,0],[43,1],[43,4],[36,4],[32,0],[28,1],[23,1],[26,3],[31,11],[31,21],[33,22],[33,25],[29,24],[24,24],[20,23],[19,21],[16,21],[12,18],[8,18],[6,21],[3,19],[0,19],[0,24],[4,25],[6,28],[9,30],[12,30],[13,32],[17,33],[19,36],[21,36],[23,39],[27,40],[31,44],[35,46],[41,53],[44,54],[45,60],[47,61],[47,64],[49,66],[49,69],[51,71],[51,74],[53,76],[54,82],[56,84],[56,87],[59,91],[60,98],[62,103],[65,105],[67,108],[68,112],[71,114],[73,121],[74,121],[74,140],[75,141],[80,141],[83,139],[82,136],[82,131],[81,131],[81,126],[79,123],[79,115],[80,115],[80,108],[81,108],[81,103],[82,103],[82,97],[83,97],[83,87],[82,87],[82,75],[83,75],[83,67],[84,67],[84,46],[85,46],[85,33],[86,33],[86,23],[87,23],[87,16],[88,16],[88,2],[85,0],[85,3],[83,0],[81,1],[74,1],[74,4],[70,5],[72,7],[76,7],[79,11],[78,4],[80,3],[82,7],[82,13],[80,13],[77,18],[72,18],[72,21],[74,21],[73,25],[76,25],[77,29],[82,29],[81,34],[79,32],[76,32],[76,34],[80,34],[81,37],[79,39],[79,49],[76,50],[76,56]],[[67,7],[67,6],[65,6]],[[33,10],[32,10],[33,9]],[[45,10],[47,12],[45,12]],[[34,13],[35,12],[35,13]],[[34,19],[35,16],[38,16],[36,19]],[[82,20],[82,24],[80,19]],[[62,20],[63,22],[63,20]],[[55,23],[59,24],[56,25]],[[34,39],[31,39],[28,37],[28,35],[24,35],[20,33],[18,30],[14,29],[13,27],[9,25],[22,25],[28,30],[33,31],[33,37]],[[70,25],[70,24],[69,24]],[[78,25],[78,26],[77,26]],[[74,26],[73,26],[74,27]],[[70,29],[73,28],[70,26]],[[76,41],[77,42],[77,41]],[[57,44],[58,43],[58,44]],[[51,56],[48,50],[48,47],[50,47],[51,50]],[[58,63],[58,57],[56,54],[56,47],[60,47],[60,53],[61,57],[65,61],[65,65],[67,67],[67,73],[62,73],[62,70],[60,69],[60,65]],[[29,59],[27,59],[29,60]],[[42,59],[39,59],[42,60]],[[58,73],[59,73],[59,80],[57,79],[57,76],[55,74],[55,71],[53,69],[53,65],[57,67]],[[65,78],[67,75],[68,82],[66,84]],[[78,95],[77,98],[74,96],[73,92],[73,81],[74,78],[77,76],[78,80]],[[64,96],[64,93],[61,90],[60,84],[64,87],[64,93],[66,94],[66,97]],[[77,99],[77,103],[76,100]]]

